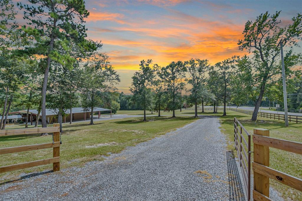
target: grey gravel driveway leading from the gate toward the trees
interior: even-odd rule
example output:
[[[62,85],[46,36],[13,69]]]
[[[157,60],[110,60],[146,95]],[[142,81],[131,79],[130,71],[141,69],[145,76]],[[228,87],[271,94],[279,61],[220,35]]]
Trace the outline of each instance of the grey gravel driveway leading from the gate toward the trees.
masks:
[[[244,200],[219,119],[196,122],[105,161],[0,185],[1,200]]]

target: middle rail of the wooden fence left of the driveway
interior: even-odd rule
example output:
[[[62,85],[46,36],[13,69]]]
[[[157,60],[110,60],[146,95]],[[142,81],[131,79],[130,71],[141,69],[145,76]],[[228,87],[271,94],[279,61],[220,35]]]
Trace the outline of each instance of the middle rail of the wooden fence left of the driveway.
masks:
[[[25,145],[25,146],[18,146],[18,147],[0,148],[0,155],[17,153],[17,152],[26,152],[26,151],[32,151],[38,149],[53,148],[59,146],[60,146],[60,142],[55,142],[54,144],[50,142],[50,143],[37,144],[37,145]]]

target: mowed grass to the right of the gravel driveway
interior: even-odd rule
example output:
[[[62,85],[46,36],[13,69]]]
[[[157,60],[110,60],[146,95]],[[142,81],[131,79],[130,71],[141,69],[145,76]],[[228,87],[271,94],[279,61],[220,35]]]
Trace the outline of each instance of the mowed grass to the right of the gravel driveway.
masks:
[[[210,111],[199,114],[220,116],[221,131],[228,136],[228,148],[231,150],[234,150],[234,117],[239,120],[239,122],[251,135],[253,134],[254,128],[263,128],[270,130],[270,137],[302,142],[302,123],[289,123],[289,126],[285,127],[284,122],[282,121],[258,118],[257,123],[255,123],[255,121],[250,120],[252,117],[251,115],[234,111],[226,111],[226,113],[227,116],[222,116],[221,111],[219,111],[217,114],[213,114],[213,112]],[[243,135],[245,136],[245,133]],[[252,139],[251,150],[253,151]],[[237,155],[236,152],[234,152],[234,154]],[[251,153],[251,161],[253,161],[253,153]],[[270,148],[270,167],[301,179],[302,155]],[[302,192],[298,190],[288,187],[275,180],[270,180],[270,185],[278,190],[286,200],[288,198],[291,200],[302,200]]]

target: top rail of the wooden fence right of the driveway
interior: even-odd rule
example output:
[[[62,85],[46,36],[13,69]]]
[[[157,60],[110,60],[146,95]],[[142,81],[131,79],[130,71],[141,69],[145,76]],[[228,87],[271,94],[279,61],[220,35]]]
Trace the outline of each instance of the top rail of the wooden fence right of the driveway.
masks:
[[[302,155],[302,143],[253,135],[253,143]]]

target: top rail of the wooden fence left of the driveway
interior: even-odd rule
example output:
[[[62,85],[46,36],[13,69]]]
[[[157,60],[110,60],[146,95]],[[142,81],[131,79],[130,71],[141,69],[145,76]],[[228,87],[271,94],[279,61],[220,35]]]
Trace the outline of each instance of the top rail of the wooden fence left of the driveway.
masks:
[[[27,129],[7,129],[0,130],[0,136],[14,136],[23,134],[36,134],[45,132],[58,132],[60,128],[48,127],[48,128],[27,128]]]

